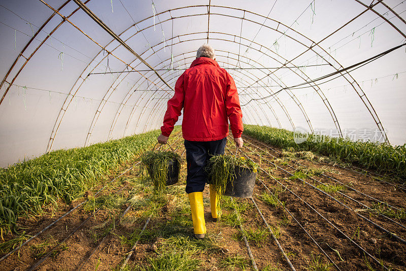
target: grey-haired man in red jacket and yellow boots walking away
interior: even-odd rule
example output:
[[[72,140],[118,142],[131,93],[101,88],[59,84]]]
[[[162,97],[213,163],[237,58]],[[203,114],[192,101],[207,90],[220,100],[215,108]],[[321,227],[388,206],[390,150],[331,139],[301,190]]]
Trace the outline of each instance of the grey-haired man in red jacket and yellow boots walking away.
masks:
[[[242,112],[234,80],[216,62],[210,45],[202,45],[196,59],[178,79],[175,95],[168,100],[158,142],[166,144],[183,108],[182,132],[185,139],[187,177],[186,193],[190,200],[196,238],[206,233],[203,190],[207,174],[205,166],[212,155],[224,154],[228,136],[228,120],[237,147],[243,146]],[[212,217],[217,220],[218,197],[210,186]]]

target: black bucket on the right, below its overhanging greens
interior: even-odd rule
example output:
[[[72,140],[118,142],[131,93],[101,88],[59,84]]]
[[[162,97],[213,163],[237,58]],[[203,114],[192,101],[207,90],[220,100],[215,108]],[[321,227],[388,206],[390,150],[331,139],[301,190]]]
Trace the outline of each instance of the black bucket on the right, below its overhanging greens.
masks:
[[[249,168],[238,166],[234,168],[234,172],[234,180],[232,183],[228,181],[224,195],[230,197],[252,197],[257,173]]]

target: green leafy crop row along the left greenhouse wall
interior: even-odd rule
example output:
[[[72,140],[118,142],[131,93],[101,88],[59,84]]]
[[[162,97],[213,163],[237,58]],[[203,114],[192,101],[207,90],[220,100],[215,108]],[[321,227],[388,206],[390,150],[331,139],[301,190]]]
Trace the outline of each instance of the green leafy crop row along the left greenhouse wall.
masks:
[[[111,170],[150,148],[159,133],[154,130],[89,147],[52,151],[0,168],[2,234],[16,230],[21,216],[38,215],[57,200],[69,203]]]

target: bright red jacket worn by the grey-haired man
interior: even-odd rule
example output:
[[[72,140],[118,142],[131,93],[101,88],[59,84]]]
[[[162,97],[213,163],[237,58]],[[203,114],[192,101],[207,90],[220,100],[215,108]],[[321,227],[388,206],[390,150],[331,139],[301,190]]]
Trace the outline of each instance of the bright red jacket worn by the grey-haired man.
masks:
[[[168,100],[161,131],[169,137],[183,109],[183,138],[213,141],[228,136],[228,119],[234,138],[243,133],[243,114],[234,80],[208,57],[196,58],[178,79]]]

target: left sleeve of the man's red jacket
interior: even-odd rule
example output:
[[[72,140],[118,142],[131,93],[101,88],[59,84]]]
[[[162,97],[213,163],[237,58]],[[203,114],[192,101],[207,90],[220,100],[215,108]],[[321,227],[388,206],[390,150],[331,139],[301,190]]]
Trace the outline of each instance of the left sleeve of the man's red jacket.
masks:
[[[175,95],[168,100],[168,106],[165,116],[163,117],[163,125],[161,132],[163,136],[169,137],[174,129],[175,123],[178,121],[179,116],[183,108],[183,102],[185,100],[185,89],[183,83],[183,74],[178,78],[175,84]]]

